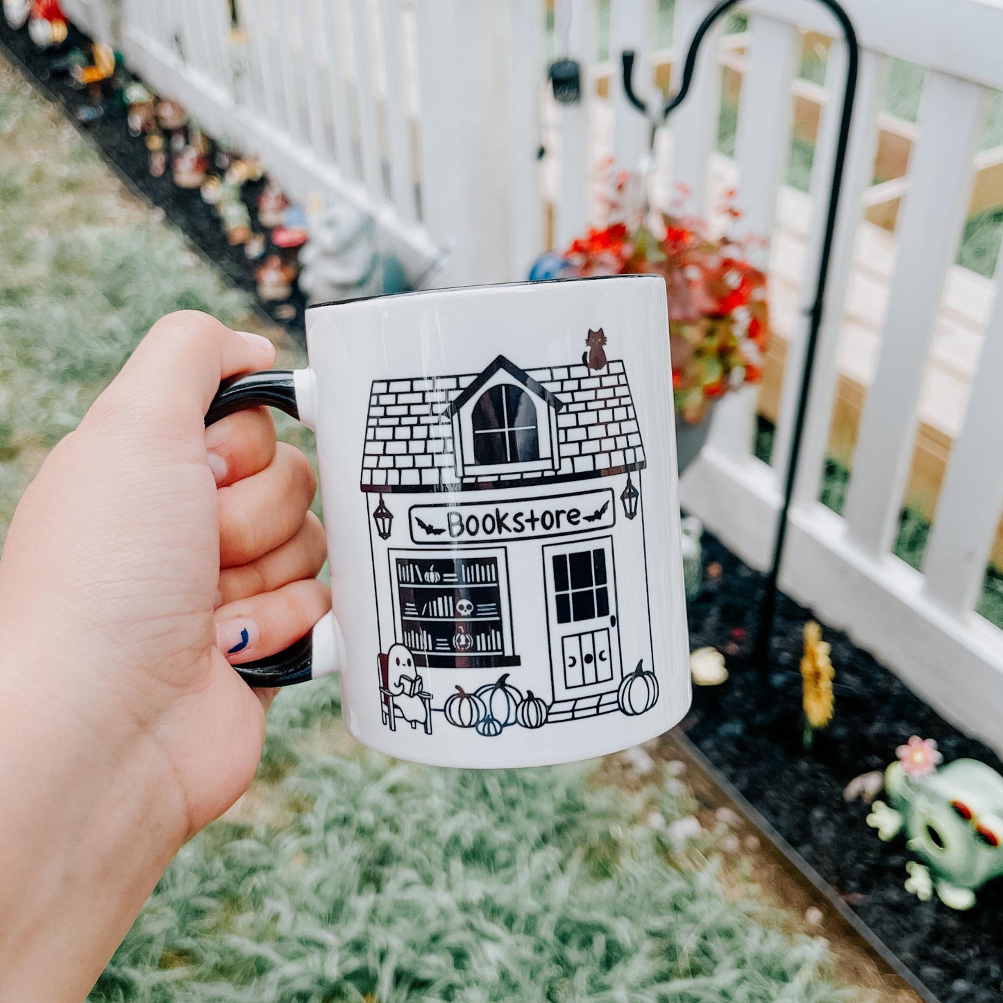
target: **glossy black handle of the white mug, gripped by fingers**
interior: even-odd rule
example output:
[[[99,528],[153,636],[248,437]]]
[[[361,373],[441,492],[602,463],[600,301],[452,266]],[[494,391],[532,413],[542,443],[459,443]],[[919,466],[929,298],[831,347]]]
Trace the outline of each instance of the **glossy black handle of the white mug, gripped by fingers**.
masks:
[[[206,427],[228,414],[262,405],[277,407],[299,420],[296,377],[292,369],[270,369],[224,380],[206,412]],[[328,613],[306,637],[285,651],[235,665],[234,669],[251,686],[290,686],[337,671],[342,652],[341,631]]]

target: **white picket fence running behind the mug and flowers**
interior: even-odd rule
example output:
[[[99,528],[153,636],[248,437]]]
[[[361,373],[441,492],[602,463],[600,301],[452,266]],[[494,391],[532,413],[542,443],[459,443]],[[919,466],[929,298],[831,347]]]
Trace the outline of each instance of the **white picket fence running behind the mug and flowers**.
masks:
[[[985,320],[924,572],[891,554],[986,90],[1003,89],[1003,4],[844,4],[864,51],[781,586],[825,622],[845,626],[945,715],[1003,750],[1003,632],[973,612],[1003,511],[1003,298]],[[637,50],[637,86],[648,92],[651,67],[673,58],[654,50],[658,0],[612,0],[605,62],[598,59],[603,22],[597,0],[556,0],[550,34],[546,0],[238,0],[238,31],[226,0],[64,5],[84,27],[116,36],[130,66],[213,134],[260,153],[295,198],[349,199],[373,213],[412,273],[449,244],[439,285],[524,277],[548,232],[564,246],[594,219],[597,159],[612,152],[619,164],[633,166],[645,146],[647,125],[624,97],[619,53]],[[709,7],[706,0],[675,0],[676,50]],[[668,198],[671,185],[683,182],[693,193],[691,208],[710,211],[715,187],[737,182],[741,226],[771,235],[793,198],[783,183],[801,29],[837,32],[827,12],[807,0],[750,0],[744,9],[734,160],[714,152],[721,73],[708,44],[690,96],[660,130],[655,191]],[[716,30],[717,39],[723,30]],[[553,55],[572,56],[585,67],[580,104],[558,106],[548,95]],[[846,55],[835,39],[799,254],[794,306],[801,308],[813,293]],[[840,517],[817,497],[844,305],[866,238],[863,199],[873,183],[892,57],[919,63],[928,74],[880,352]],[[609,96],[599,97],[604,77]],[[547,150],[542,162],[541,143]],[[790,315],[787,371],[798,372],[803,318],[793,309]],[[685,505],[757,568],[768,563],[795,390],[795,381],[785,380],[772,465],[751,454],[755,398],[746,392],[719,407],[711,441],[682,486]]]

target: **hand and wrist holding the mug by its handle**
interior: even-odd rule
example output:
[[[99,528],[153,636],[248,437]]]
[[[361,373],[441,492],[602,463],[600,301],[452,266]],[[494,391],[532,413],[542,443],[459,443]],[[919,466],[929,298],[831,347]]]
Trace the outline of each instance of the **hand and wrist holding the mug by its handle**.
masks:
[[[18,507],[0,562],[0,916],[21,922],[0,924],[0,998],[15,970],[19,998],[85,994],[182,842],[254,775],[271,693],[230,662],[330,606],[306,458],[261,409],[204,425],[221,379],[273,361],[265,338],[163,318]],[[53,952],[75,959],[66,983]]]

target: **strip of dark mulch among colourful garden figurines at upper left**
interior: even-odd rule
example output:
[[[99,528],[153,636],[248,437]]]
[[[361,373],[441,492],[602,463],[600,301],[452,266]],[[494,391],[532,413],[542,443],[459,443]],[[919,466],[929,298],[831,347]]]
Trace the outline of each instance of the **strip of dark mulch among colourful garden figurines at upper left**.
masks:
[[[175,224],[235,286],[247,290],[257,300],[259,308],[270,320],[286,328],[301,344],[303,334],[303,310],[306,298],[295,287],[293,295],[284,303],[272,303],[257,297],[255,269],[259,261],[250,261],[243,247],[231,247],[226,231],[212,206],[202,201],[199,190],[178,188],[171,178],[171,169],[161,178],[153,178],[148,171],[148,152],[141,136],[129,135],[125,125],[126,107],[121,99],[122,86],[131,77],[123,70],[115,74],[113,82],[103,84],[103,99],[100,117],[86,123],[80,122],[77,113],[81,108],[95,106],[86,89],[80,88],[67,69],[60,64],[73,49],[82,49],[89,57],[90,40],[74,27],[70,27],[69,37],[56,51],[39,51],[35,48],[26,30],[12,31],[0,17],[0,50],[12,61],[25,69],[49,97],[61,104],[66,115],[97,143],[107,160],[117,170],[123,180],[138,193],[163,210],[166,218]],[[210,151],[213,161],[215,149]],[[212,170],[212,169],[211,169]],[[253,229],[268,236],[268,231],[257,225],[258,196],[265,182],[247,183],[241,194],[251,213]],[[268,242],[265,256],[277,249]]]

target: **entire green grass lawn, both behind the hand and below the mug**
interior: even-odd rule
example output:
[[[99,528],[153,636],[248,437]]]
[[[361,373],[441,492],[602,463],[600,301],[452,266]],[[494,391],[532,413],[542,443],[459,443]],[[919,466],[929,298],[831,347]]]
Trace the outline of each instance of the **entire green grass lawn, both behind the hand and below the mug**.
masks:
[[[3,526],[178,307],[247,323],[245,298],[0,62]],[[631,793],[595,763],[409,766],[361,750],[339,710],[336,681],[280,695],[251,789],[169,868],[94,1003],[864,998],[763,905],[678,779]]]

